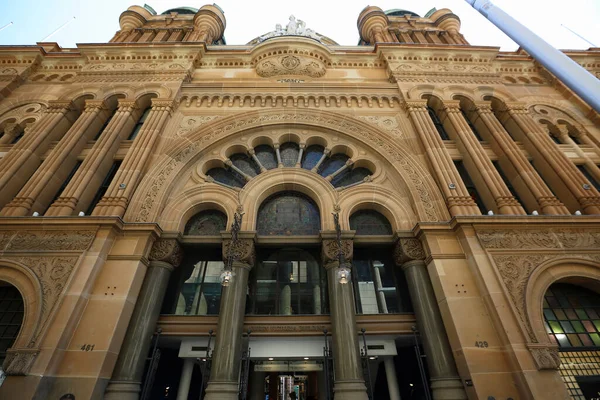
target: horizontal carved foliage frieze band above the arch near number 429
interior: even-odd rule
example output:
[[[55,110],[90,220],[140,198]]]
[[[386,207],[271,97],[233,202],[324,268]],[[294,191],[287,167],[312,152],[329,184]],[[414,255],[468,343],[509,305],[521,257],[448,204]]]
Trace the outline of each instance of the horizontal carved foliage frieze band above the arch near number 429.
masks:
[[[600,248],[600,232],[584,229],[484,230],[478,231],[477,237],[486,249]]]

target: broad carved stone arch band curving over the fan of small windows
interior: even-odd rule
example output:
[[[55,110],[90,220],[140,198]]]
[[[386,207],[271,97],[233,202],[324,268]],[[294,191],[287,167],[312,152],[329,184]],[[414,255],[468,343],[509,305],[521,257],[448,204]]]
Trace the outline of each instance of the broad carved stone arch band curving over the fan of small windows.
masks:
[[[176,177],[191,170],[208,147],[222,145],[243,132],[289,129],[290,125],[299,130],[309,129],[360,142],[365,149],[385,160],[389,169],[397,174],[397,185],[410,194],[411,206],[421,220],[449,219],[442,195],[426,165],[418,162],[389,134],[347,115],[303,109],[252,110],[201,125],[182,140],[165,143],[162,155],[136,191],[125,219],[137,222],[160,220],[164,206],[171,202],[173,188],[181,184],[181,179]]]

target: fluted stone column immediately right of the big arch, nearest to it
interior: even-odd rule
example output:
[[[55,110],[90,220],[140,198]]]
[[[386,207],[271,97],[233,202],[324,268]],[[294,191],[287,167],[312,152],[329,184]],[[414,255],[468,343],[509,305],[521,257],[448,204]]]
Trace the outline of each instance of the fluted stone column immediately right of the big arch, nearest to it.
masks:
[[[450,153],[440,138],[433,121],[427,112],[427,101],[410,100],[404,104],[417,135],[423,144],[427,159],[433,169],[438,186],[446,199],[450,214],[481,215],[475,201],[469,195],[460,174],[458,173]],[[453,184],[454,188],[451,189]]]

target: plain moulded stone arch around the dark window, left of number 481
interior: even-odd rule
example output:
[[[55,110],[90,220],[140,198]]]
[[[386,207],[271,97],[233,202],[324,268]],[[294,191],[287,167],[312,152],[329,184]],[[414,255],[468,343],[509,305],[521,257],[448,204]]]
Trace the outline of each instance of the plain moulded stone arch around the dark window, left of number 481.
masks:
[[[0,259],[0,281],[17,288],[24,303],[21,329],[13,348],[28,347],[39,329],[42,315],[42,286],[35,274],[25,265]]]

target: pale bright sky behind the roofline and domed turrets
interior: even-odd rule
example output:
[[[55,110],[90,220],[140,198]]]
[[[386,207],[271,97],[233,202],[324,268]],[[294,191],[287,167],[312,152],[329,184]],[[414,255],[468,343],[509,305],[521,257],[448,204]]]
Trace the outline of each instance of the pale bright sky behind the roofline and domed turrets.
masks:
[[[146,0],[158,13],[169,8],[199,8],[206,0]],[[473,10],[464,0],[217,0],[225,12],[227,44],[246,44],[257,36],[285,26],[289,16],[306,22],[341,45],[359,40],[356,20],[367,5],[389,10],[402,8],[425,15],[431,8],[449,8],[461,21],[461,33],[473,45],[518,48],[510,38]],[[591,44],[561,26],[565,25],[600,46],[600,0],[494,0],[494,3],[559,49],[587,49]],[[144,0],[0,0],[0,45],[32,45],[70,21],[46,41],[62,47],[76,43],[105,43],[119,30],[119,15]],[[73,19],[75,17],[75,19]]]

